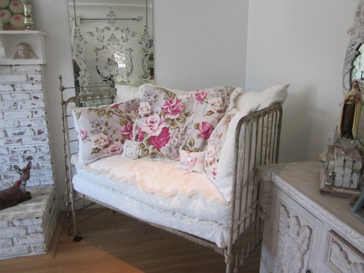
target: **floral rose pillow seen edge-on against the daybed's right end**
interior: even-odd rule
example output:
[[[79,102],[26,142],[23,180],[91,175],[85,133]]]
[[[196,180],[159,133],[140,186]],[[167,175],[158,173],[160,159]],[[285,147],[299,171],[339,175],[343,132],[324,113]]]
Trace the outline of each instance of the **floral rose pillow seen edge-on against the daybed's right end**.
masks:
[[[237,112],[238,110],[234,108],[220,120],[207,143],[205,172],[212,180],[216,180],[220,153],[227,137],[229,123]]]

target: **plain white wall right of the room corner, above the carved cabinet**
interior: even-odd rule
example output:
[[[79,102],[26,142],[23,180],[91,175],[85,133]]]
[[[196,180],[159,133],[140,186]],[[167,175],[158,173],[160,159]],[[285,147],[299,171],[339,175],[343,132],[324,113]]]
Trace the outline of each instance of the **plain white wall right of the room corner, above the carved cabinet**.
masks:
[[[357,0],[249,1],[246,91],[290,83],[280,162],[317,160],[335,130]]]

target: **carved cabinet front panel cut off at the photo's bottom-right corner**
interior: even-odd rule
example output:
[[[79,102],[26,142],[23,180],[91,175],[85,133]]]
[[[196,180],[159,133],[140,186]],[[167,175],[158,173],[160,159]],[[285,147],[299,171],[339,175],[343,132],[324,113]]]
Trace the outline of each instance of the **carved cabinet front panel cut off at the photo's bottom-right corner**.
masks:
[[[364,255],[330,230],[327,232],[324,264],[335,273],[363,273]]]

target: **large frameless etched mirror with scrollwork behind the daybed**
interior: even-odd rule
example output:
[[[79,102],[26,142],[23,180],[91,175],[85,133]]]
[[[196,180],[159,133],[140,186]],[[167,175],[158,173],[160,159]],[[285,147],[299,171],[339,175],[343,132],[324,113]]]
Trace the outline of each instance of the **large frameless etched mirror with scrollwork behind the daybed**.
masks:
[[[90,93],[88,86],[153,83],[152,0],[69,0],[68,6],[80,94]]]

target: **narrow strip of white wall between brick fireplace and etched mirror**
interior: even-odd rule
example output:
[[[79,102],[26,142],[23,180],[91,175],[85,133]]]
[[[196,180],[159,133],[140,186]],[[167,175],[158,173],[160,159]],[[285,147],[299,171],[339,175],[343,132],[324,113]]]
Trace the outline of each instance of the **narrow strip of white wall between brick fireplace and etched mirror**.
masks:
[[[35,0],[32,3],[34,29],[42,30],[47,34],[45,87],[55,182],[58,196],[61,196],[65,192],[65,176],[59,75],[63,77],[64,86],[74,85],[68,6],[66,0]],[[63,206],[60,208],[63,209]]]

